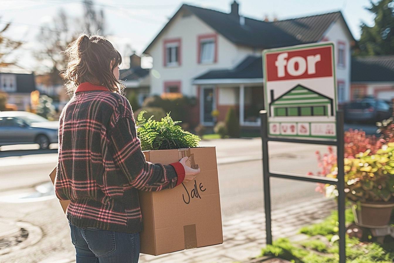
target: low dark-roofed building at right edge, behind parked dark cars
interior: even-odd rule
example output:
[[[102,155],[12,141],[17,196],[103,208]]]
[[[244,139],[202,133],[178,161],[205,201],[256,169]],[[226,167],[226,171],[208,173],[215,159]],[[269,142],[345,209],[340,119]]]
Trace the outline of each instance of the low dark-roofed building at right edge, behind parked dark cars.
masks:
[[[353,57],[351,63],[351,99],[373,96],[394,99],[394,56]]]

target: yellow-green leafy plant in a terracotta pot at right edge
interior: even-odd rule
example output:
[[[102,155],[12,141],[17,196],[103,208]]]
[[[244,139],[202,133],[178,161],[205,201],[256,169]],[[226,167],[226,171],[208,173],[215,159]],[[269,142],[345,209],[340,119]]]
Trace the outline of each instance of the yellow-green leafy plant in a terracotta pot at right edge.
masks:
[[[345,192],[352,202],[355,223],[368,228],[387,227],[394,208],[394,143],[381,146],[375,154],[370,149],[344,159]],[[333,166],[327,177],[335,178]],[[326,187],[335,193],[334,185]],[[333,191],[335,190],[335,191]]]

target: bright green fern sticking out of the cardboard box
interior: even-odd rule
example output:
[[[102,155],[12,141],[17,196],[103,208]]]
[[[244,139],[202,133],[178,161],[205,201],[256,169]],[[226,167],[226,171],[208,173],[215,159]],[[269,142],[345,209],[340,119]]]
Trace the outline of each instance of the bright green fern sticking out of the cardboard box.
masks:
[[[151,118],[146,119],[141,111],[137,116],[137,136],[141,140],[141,149],[147,150],[164,150],[197,147],[200,141],[199,136],[184,131],[177,123],[173,121],[170,114],[162,118],[161,121],[155,121]]]

